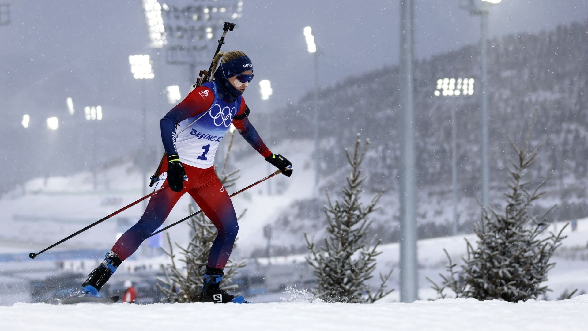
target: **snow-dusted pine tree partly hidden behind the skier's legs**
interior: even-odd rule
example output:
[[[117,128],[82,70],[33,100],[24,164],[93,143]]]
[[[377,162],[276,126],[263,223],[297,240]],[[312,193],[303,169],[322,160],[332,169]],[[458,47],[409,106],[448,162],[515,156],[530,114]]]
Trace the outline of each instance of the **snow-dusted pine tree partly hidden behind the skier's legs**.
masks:
[[[229,159],[230,147],[233,143],[234,134],[231,136],[228,151],[225,156],[222,171],[219,174],[220,182],[225,188],[232,187],[235,181],[239,178],[237,175],[239,170],[225,173],[226,164]],[[189,205],[190,213],[194,213],[194,207]],[[245,211],[243,211],[245,213]],[[239,217],[243,216],[241,214]],[[178,257],[176,263],[176,255],[173,253],[172,241],[168,237],[169,250],[163,249],[163,252],[171,259],[171,263],[162,265],[163,278],[158,278],[158,289],[166,297],[169,303],[187,303],[199,302],[202,289],[202,278],[206,272],[206,264],[208,264],[208,255],[211,251],[211,246],[215,240],[217,230],[214,224],[203,213],[191,217],[188,225],[190,226],[190,233],[192,238],[187,247],[182,247],[175,243],[180,250],[181,257]],[[183,264],[183,265],[182,265]],[[235,290],[238,285],[231,284],[232,278],[236,275],[237,270],[245,266],[245,261],[236,262],[229,259],[225,266],[225,276],[223,278],[223,289]],[[228,286],[227,286],[228,284]]]

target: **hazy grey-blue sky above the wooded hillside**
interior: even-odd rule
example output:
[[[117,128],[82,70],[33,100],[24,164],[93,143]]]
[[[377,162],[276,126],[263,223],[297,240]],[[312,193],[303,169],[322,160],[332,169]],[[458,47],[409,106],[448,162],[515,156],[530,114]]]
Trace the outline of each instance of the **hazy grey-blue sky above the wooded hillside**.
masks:
[[[65,113],[65,98],[73,96],[79,105],[111,103],[136,108],[141,85],[131,77],[128,55],[149,51],[140,0],[3,2],[11,4],[12,24],[0,27],[0,107],[41,106],[47,113]],[[458,3],[415,1],[417,57],[478,40],[479,18],[459,9]],[[504,0],[490,15],[490,36],[539,32],[587,17],[588,3],[583,0]],[[244,0],[242,17],[235,22],[238,26],[230,32],[223,50],[242,49],[252,58],[256,79],[245,93],[252,109],[262,107],[257,83],[263,78],[272,81],[270,102],[274,107],[296,102],[312,88],[313,62],[302,35],[306,25],[313,28],[321,52],[322,85],[396,64],[398,59],[397,0]],[[161,62],[155,66],[165,74],[163,80],[149,82],[149,102],[153,107],[169,108],[155,92],[179,84],[185,94],[188,73],[185,66]],[[0,110],[15,118],[22,116],[21,110]]]

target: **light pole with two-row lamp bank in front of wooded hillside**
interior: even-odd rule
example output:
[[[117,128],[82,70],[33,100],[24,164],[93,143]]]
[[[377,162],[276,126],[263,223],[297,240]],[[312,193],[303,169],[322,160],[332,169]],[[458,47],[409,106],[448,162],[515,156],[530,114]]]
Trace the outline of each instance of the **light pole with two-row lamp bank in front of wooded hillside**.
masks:
[[[473,78],[443,78],[437,80],[437,89],[433,94],[436,97],[452,97],[459,95],[472,95],[474,93]],[[451,181],[453,198],[452,234],[457,234],[457,118],[456,107],[451,106]]]

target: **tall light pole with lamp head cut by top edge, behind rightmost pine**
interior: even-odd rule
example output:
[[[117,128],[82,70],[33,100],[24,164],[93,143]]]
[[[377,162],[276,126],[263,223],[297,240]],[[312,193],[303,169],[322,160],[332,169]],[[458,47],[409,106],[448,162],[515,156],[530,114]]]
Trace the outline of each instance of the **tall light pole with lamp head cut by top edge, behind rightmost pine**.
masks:
[[[487,91],[487,42],[488,42],[488,14],[492,5],[502,0],[462,0],[460,8],[467,10],[470,15],[480,16],[480,111],[482,112],[482,205],[489,205],[490,170],[488,164],[488,91]]]

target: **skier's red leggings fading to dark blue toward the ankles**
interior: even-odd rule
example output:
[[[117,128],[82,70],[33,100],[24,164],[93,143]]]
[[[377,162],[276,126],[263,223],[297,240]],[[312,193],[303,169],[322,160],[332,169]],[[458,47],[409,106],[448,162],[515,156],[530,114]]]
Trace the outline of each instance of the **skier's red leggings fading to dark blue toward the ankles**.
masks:
[[[188,192],[218,230],[218,235],[208,256],[208,265],[219,269],[225,267],[239,231],[233,203],[230,201],[225,187],[222,186],[216,176],[214,167],[201,169],[186,164],[183,164],[183,166],[188,176],[188,181],[184,181],[183,190],[174,192],[168,187],[152,196],[141,219],[131,229],[126,230],[112,247],[112,251],[121,260],[124,261],[135,253],[143,240],[147,239],[163,224],[179,198]],[[165,171],[167,171],[167,164],[164,164],[162,168],[159,183],[163,181],[163,178],[167,177],[167,173],[164,174]],[[168,181],[165,180],[164,183],[159,183],[155,186],[156,190],[162,184],[167,184]]]

